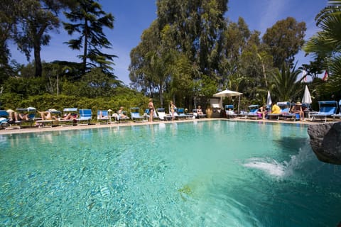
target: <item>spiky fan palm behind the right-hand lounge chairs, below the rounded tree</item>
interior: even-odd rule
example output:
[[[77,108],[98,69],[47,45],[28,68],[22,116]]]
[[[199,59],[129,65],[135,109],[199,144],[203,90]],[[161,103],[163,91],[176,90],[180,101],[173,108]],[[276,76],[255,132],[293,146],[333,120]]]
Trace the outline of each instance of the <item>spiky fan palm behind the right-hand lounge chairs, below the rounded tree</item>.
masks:
[[[283,65],[281,71],[277,70],[273,74],[271,94],[274,94],[278,101],[295,101],[303,89],[297,79],[300,73],[301,70],[295,70],[295,67],[291,70],[289,66]]]

